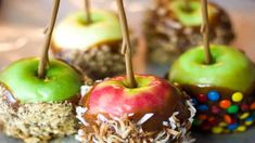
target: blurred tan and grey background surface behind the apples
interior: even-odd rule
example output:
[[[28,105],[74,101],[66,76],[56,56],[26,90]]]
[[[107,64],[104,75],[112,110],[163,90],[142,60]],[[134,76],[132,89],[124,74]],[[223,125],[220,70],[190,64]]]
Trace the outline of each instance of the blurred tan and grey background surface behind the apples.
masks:
[[[52,0],[0,0],[0,68],[25,56],[39,55],[43,43],[43,30],[51,13]],[[153,0],[125,0],[130,27],[141,35],[143,12]],[[237,32],[232,43],[243,50],[255,62],[255,0],[212,0],[221,5],[230,15]],[[58,21],[77,9],[82,9],[82,0],[62,0]],[[91,0],[91,6],[115,10],[114,0]],[[152,69],[163,76],[164,70]],[[220,136],[200,138],[199,142],[252,143],[255,131]],[[3,139],[1,139],[3,138]],[[220,139],[220,140],[218,140]],[[0,135],[1,143],[13,140]]]

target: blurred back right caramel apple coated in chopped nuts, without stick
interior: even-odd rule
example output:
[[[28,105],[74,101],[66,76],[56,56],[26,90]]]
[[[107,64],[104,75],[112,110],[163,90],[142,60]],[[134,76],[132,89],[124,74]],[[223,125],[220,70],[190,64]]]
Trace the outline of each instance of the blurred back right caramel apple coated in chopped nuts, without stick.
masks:
[[[171,63],[187,49],[202,42],[202,24],[199,0],[190,1],[190,11],[183,10],[183,1],[170,0],[169,6],[156,3],[145,13],[143,34],[149,46],[148,58],[153,63]],[[208,18],[212,43],[230,43],[233,30],[228,14],[209,3]]]

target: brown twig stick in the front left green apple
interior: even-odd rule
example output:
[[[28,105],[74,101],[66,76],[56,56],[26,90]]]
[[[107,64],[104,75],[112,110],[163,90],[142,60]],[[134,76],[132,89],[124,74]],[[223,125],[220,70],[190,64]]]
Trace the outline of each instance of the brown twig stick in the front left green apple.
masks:
[[[46,42],[43,44],[43,50],[42,50],[42,54],[41,54],[41,58],[40,58],[39,67],[38,67],[39,78],[46,77],[46,70],[47,70],[46,68],[49,63],[49,48],[50,48],[50,42],[51,42],[51,36],[52,36],[53,28],[55,25],[55,20],[56,20],[61,0],[53,0],[53,1],[54,1],[54,5],[53,5],[52,14],[51,14],[51,21],[50,21],[49,28],[47,28]]]

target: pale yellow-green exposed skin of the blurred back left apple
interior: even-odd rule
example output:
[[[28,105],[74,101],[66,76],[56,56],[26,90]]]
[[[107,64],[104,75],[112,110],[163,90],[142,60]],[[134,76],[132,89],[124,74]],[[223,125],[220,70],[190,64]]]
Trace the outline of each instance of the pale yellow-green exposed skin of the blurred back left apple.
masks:
[[[91,24],[87,24],[84,11],[67,16],[55,28],[53,44],[66,49],[89,49],[93,46],[122,40],[118,17],[107,11],[91,11]]]

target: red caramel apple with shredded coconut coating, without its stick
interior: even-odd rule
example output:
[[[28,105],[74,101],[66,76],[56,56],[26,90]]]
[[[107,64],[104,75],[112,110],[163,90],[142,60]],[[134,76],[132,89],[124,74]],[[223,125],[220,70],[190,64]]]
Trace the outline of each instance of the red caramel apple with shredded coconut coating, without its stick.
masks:
[[[82,87],[77,118],[81,142],[193,142],[189,129],[195,114],[189,98],[167,81],[136,75],[138,88],[125,77]]]

